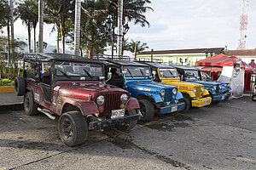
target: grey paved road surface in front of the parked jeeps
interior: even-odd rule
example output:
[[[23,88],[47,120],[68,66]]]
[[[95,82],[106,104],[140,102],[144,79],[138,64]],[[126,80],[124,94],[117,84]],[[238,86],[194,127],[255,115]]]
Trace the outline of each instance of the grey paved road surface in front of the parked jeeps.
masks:
[[[0,170],[256,168],[256,102],[249,97],[156,116],[130,133],[91,131],[72,148],[56,125],[43,114],[0,112]]]

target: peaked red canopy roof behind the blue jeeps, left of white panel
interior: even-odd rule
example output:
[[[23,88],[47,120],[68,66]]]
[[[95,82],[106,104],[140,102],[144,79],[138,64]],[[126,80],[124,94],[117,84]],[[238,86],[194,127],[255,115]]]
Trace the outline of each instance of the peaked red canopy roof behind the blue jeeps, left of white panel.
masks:
[[[218,54],[214,55],[207,59],[201,59],[200,61],[196,61],[195,65],[203,65],[203,66],[228,66],[228,65],[236,65],[236,60],[231,59],[227,55]]]

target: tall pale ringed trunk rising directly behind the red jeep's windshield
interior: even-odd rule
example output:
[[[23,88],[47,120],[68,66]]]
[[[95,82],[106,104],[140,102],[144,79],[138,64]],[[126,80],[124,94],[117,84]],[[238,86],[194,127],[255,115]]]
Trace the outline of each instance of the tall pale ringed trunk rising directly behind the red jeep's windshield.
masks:
[[[74,54],[79,55],[80,48],[80,20],[81,20],[81,0],[76,0],[75,5],[75,27],[74,27]]]

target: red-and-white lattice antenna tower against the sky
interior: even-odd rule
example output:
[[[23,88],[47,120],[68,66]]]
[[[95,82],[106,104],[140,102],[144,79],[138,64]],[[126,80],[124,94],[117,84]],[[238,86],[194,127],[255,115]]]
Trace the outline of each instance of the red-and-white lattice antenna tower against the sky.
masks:
[[[247,38],[247,23],[248,23],[248,4],[249,0],[241,0],[241,16],[240,16],[240,27],[239,27],[239,42],[237,49],[246,48],[246,38]]]

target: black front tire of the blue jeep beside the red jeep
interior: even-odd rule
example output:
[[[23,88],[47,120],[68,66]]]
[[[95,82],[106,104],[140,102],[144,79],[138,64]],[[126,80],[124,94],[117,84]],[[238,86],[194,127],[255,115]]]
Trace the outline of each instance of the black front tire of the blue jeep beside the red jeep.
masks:
[[[142,121],[150,121],[154,117],[154,105],[148,99],[140,99],[139,101],[140,111],[142,113]]]

